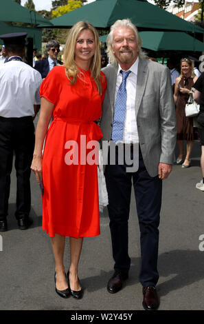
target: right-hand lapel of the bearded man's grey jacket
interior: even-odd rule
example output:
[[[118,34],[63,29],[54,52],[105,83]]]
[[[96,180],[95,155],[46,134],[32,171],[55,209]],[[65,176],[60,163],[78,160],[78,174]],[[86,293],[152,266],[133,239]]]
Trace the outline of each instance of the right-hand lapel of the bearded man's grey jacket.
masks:
[[[138,63],[138,72],[137,72],[137,90],[136,90],[136,99],[135,99],[135,112],[139,110],[141,104],[141,99],[146,88],[146,81],[148,79],[148,61],[139,59]]]

